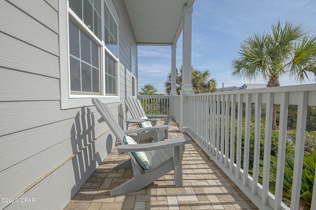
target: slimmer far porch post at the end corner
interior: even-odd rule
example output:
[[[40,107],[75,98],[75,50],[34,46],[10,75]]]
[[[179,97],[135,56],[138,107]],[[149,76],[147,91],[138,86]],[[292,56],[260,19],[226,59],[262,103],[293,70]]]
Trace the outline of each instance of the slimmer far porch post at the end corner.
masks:
[[[170,90],[170,114],[174,114],[174,100],[173,97],[177,96],[177,88],[176,88],[176,60],[177,60],[177,45],[171,45],[171,90]]]

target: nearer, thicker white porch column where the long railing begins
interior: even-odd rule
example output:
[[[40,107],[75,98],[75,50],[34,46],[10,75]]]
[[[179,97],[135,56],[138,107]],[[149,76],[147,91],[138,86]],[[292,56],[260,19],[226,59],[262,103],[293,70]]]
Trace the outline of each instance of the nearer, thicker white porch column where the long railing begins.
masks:
[[[192,6],[183,8],[183,51],[182,51],[182,86],[180,91],[180,131],[188,128],[188,95],[194,94],[191,84],[191,56],[192,56]]]

